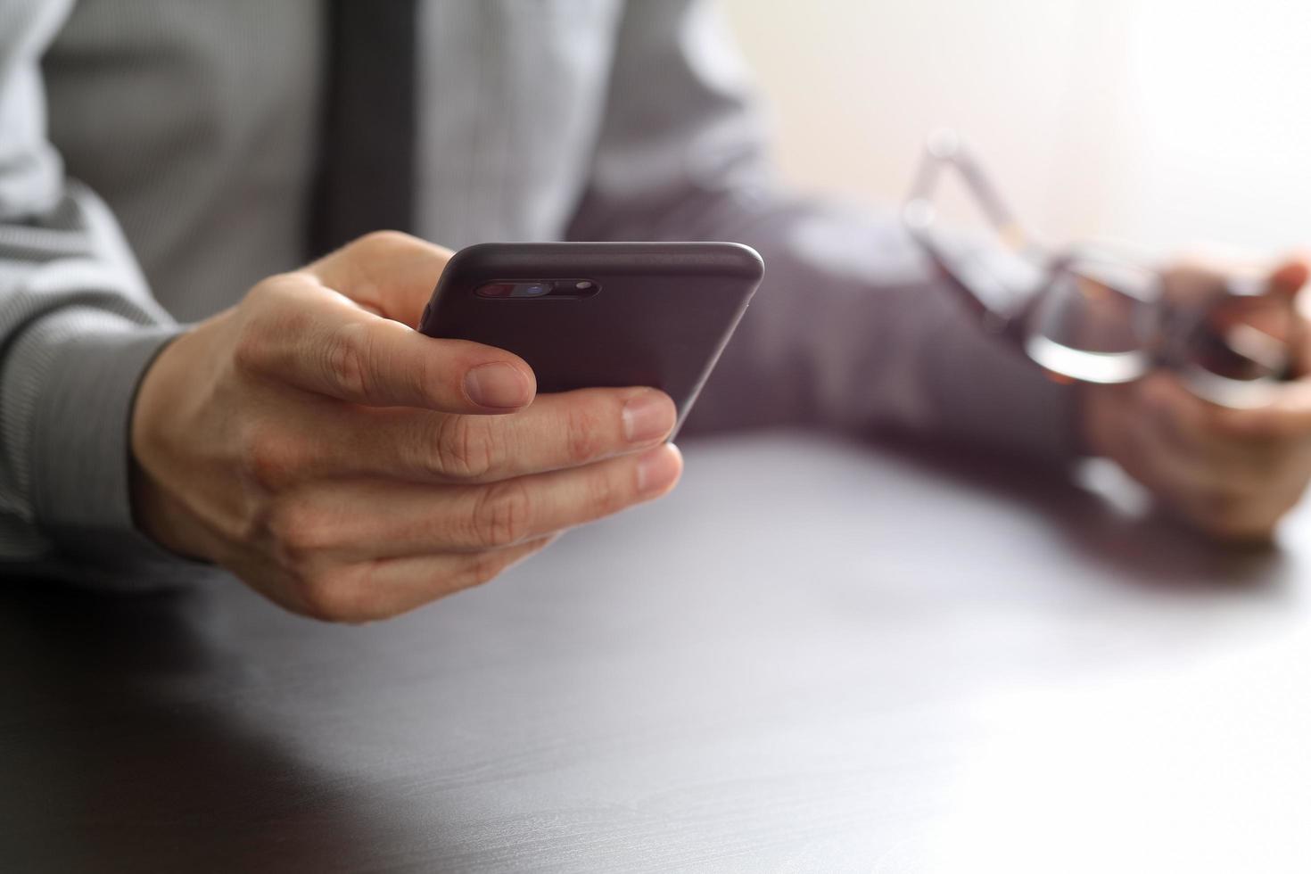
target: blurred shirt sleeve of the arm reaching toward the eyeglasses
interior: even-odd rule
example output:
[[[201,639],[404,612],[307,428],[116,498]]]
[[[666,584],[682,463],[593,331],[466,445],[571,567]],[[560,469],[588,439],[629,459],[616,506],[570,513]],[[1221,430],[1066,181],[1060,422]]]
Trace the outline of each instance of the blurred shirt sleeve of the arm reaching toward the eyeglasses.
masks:
[[[891,212],[771,180],[749,76],[709,3],[629,3],[576,240],[733,240],[766,279],[688,428],[809,422],[1062,463],[1067,387],[987,335]]]

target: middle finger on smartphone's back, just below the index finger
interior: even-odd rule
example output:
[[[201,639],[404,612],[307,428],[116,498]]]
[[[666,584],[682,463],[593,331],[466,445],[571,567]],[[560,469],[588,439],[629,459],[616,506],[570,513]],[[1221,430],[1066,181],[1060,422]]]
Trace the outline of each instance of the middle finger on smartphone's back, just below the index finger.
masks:
[[[308,408],[282,444],[303,449],[309,476],[378,476],[418,482],[492,482],[576,468],[654,446],[676,410],[649,388],[543,394],[514,415]]]

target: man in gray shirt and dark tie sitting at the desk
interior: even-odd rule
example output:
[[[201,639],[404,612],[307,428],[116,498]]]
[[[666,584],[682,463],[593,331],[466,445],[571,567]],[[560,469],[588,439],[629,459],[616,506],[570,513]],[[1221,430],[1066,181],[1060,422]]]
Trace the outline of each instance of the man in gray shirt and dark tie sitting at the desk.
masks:
[[[704,3],[0,0],[0,25],[16,570],[131,586],[212,562],[358,621],[671,489],[658,392],[535,397],[514,355],[409,328],[448,254],[423,240],[754,245],[768,276],[694,428],[1104,453],[1228,537],[1268,535],[1311,472],[1308,384],[1249,411],[1165,373],[1051,384],[895,223],[777,193]],[[347,242],[384,227],[416,236]]]

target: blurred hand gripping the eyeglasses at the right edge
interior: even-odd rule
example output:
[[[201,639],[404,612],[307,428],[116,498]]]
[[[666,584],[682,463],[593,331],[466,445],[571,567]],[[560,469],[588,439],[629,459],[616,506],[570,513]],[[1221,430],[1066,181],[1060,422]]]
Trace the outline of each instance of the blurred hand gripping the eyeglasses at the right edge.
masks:
[[[1289,261],[1268,279],[1269,294],[1294,296],[1308,263]],[[1190,294],[1218,274],[1180,267],[1167,290]],[[1301,316],[1298,316],[1301,318]],[[1084,436],[1096,453],[1120,463],[1175,514],[1232,541],[1264,541],[1299,501],[1311,478],[1311,362],[1307,325],[1295,349],[1297,381],[1277,387],[1273,402],[1228,409],[1189,392],[1168,372],[1127,385],[1083,389]]]

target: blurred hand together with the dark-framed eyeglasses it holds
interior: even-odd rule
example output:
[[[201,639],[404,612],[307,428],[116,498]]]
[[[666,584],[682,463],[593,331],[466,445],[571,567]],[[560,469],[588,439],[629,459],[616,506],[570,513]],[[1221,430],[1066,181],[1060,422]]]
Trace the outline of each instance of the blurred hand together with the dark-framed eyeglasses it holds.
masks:
[[[962,245],[940,228],[933,197],[948,169],[999,245]],[[1311,263],[1251,275],[1051,254],[950,131],[929,140],[903,215],[985,329],[1053,379],[1080,384],[1087,447],[1177,515],[1221,539],[1264,540],[1299,501],[1311,480],[1311,341],[1295,297]]]

